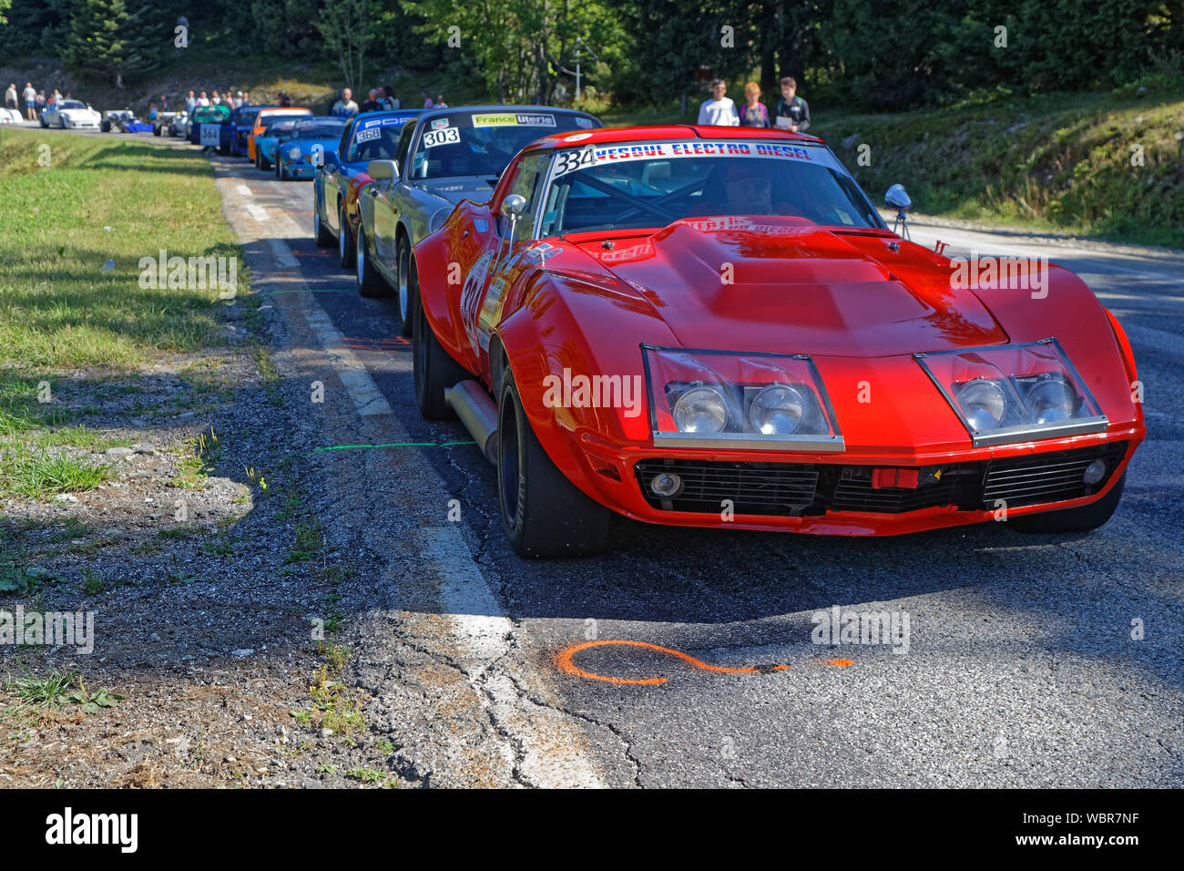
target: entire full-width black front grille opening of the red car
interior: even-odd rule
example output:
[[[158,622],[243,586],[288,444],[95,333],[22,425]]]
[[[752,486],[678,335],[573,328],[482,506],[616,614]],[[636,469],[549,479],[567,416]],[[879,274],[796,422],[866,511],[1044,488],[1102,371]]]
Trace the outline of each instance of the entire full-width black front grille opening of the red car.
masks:
[[[802,515],[826,511],[901,514],[951,505],[960,511],[1060,502],[1098,492],[1126,454],[1126,442],[982,462],[926,466],[916,487],[873,487],[871,466],[830,463],[712,462],[641,460],[637,481],[645,500],[662,511],[719,513],[725,499],[738,514]],[[1106,474],[1094,485],[1081,478],[1094,460]],[[670,498],[654,493],[654,476],[669,472],[682,479]]]

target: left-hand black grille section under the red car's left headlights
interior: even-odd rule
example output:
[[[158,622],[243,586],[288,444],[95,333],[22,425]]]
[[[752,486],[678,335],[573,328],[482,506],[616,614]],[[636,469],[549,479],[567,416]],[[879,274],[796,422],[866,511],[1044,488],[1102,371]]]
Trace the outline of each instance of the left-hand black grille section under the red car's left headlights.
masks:
[[[669,499],[650,489],[661,472],[682,479],[682,489]],[[818,469],[799,463],[642,460],[637,480],[650,505],[665,511],[719,513],[723,500],[731,499],[738,514],[800,514],[815,501]]]

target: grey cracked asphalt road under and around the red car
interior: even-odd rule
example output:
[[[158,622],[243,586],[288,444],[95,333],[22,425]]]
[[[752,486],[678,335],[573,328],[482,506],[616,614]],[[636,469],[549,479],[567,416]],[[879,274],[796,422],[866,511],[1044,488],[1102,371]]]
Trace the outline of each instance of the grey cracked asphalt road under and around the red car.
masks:
[[[1047,255],[1077,271],[1126,327],[1146,385],[1148,438],[1117,514],[1092,534],[1025,536],[987,524],[848,539],[664,529],[617,518],[606,555],[532,563],[503,539],[493,468],[474,446],[450,444],[468,441],[465,430],[420,418],[410,345],[394,331],[394,301],[361,299],[335,251],[314,245],[311,185],[281,184],[243,160],[214,164],[227,216],[240,232],[242,212],[255,206],[247,250],[256,288],[294,292],[274,316],[300,312],[309,325],[321,325],[322,344],[343,337],[348,352],[337,354],[339,364],[363,367],[388,406],[390,414],[358,418],[358,442],[423,443],[333,453],[337,469],[390,465],[399,486],[407,485],[392,493],[374,483],[362,498],[387,504],[388,525],[367,534],[388,538],[400,577],[413,581],[398,594],[375,593],[356,609],[399,610],[405,640],[416,632],[416,617],[422,625],[451,621],[453,635],[468,633],[464,643],[480,662],[462,671],[482,689],[483,707],[438,716],[452,717],[450,728],[463,743],[466,730],[488,728],[477,722],[482,716],[495,724],[506,718],[498,705],[522,713],[509,730],[516,780],[1184,783],[1184,257],[913,228],[921,244],[950,243],[947,254]],[[294,328],[285,335],[298,345],[309,334]],[[359,378],[341,378],[350,380]],[[349,437],[348,416],[342,425],[347,435],[339,428],[337,437]],[[384,435],[374,436],[375,427]],[[365,491],[372,478],[360,473],[350,486]],[[445,514],[453,499],[462,519],[450,525]],[[427,538],[424,512],[436,518]],[[811,615],[835,606],[907,615],[907,653],[887,645],[813,643]],[[565,671],[562,652],[591,640],[664,649],[624,643],[572,654],[575,668],[613,681]],[[850,665],[826,665],[836,658]],[[662,680],[622,683],[649,679]],[[398,711],[392,722],[399,722]],[[439,780],[483,782],[465,768],[470,763],[455,758],[431,763],[448,775]],[[444,770],[450,764],[453,770]]]

